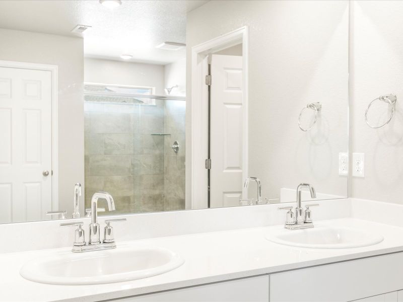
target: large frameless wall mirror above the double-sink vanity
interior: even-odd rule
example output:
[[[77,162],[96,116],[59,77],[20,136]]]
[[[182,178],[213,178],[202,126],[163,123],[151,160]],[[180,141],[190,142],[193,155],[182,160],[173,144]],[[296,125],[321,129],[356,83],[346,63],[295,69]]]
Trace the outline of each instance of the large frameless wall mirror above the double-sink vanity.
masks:
[[[0,223],[348,196],[348,1],[3,0],[0,41]]]

